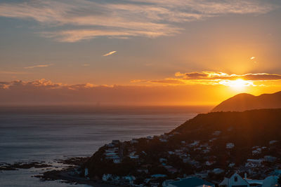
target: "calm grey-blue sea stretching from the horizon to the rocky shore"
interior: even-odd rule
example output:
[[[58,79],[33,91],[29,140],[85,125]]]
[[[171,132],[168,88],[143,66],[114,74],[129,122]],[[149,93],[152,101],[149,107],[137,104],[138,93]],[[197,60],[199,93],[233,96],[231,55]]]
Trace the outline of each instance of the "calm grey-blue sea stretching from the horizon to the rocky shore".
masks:
[[[86,186],[33,177],[87,157],[112,139],[163,134],[210,106],[0,106],[0,163],[44,161],[52,167],[0,171],[0,186]]]

